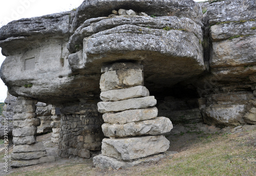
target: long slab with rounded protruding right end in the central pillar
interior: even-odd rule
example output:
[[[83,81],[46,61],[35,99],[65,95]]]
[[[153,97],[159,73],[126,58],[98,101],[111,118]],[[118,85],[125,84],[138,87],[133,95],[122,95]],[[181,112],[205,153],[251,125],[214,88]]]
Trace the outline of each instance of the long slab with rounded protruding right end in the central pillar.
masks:
[[[142,135],[161,135],[173,129],[173,124],[166,117],[125,124],[104,123],[102,131],[106,137],[128,137]]]

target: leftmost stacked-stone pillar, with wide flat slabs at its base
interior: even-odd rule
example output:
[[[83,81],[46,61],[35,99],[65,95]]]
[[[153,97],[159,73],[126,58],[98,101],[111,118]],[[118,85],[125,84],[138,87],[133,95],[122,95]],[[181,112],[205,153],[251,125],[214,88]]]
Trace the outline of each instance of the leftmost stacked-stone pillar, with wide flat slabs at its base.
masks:
[[[13,116],[13,153],[12,167],[30,166],[39,163],[53,162],[54,157],[46,156],[42,142],[36,142],[37,126],[40,119],[36,118],[36,100],[18,97],[15,102]]]

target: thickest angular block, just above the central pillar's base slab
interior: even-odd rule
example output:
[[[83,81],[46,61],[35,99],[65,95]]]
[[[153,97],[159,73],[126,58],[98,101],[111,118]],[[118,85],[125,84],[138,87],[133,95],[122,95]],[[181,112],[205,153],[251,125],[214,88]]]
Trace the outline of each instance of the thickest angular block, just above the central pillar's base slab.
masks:
[[[166,151],[169,141],[163,136],[142,136],[102,140],[102,155],[118,160],[134,160]]]

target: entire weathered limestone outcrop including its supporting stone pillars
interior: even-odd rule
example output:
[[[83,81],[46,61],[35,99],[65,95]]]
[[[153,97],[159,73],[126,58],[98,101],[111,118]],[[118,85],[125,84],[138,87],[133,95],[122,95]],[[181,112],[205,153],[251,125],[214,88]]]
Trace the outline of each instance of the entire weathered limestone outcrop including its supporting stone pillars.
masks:
[[[12,21],[0,29],[6,56],[0,77],[11,95],[28,98],[15,107],[6,100],[5,113],[16,113],[13,142],[35,145],[35,100],[55,108],[51,115],[37,106],[41,122],[53,120],[59,156],[90,158],[102,148],[94,158],[101,168],[161,158],[151,155],[168,148],[162,133],[170,120],[255,124],[255,6],[255,0],[86,0],[76,11]],[[110,139],[102,143],[103,133]],[[143,144],[138,153],[134,143],[122,143],[142,138],[159,143],[152,152]],[[26,152],[21,147],[14,158],[30,157]]]

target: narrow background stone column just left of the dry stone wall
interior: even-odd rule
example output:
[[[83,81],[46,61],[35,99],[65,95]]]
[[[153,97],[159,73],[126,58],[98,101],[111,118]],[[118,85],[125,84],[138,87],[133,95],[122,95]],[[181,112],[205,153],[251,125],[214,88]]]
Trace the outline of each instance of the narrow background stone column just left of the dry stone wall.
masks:
[[[56,115],[55,107],[52,108],[52,139],[53,143],[59,143],[60,115]]]

